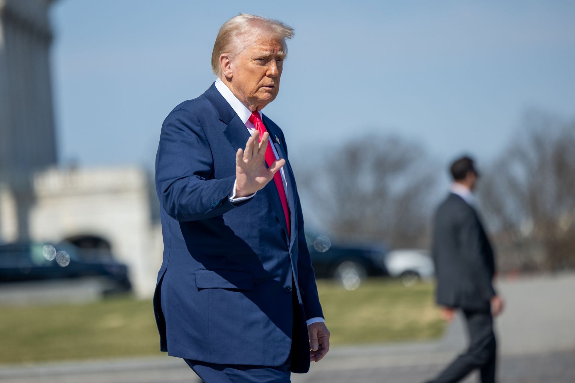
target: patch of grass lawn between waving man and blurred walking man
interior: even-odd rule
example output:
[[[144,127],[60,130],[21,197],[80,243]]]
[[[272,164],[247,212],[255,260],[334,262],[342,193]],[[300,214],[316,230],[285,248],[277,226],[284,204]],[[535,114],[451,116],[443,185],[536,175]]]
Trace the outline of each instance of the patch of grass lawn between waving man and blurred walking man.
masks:
[[[373,278],[354,291],[327,281],[318,288],[333,344],[424,340],[443,333],[431,283],[407,288]]]

